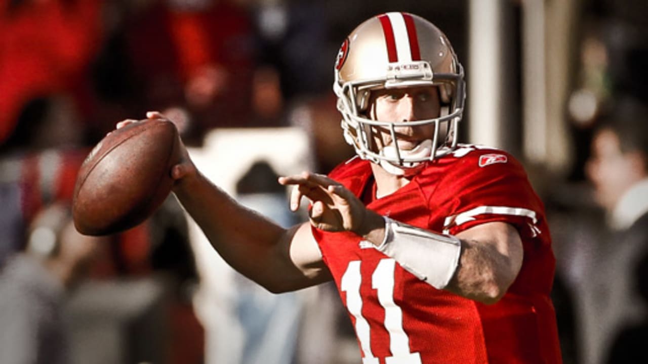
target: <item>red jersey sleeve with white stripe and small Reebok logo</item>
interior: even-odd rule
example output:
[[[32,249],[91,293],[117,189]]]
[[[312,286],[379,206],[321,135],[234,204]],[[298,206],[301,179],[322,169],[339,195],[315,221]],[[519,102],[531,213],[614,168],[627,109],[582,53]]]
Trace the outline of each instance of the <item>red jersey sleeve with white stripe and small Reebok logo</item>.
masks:
[[[443,232],[449,234],[506,222],[526,240],[542,233],[544,226],[544,206],[524,168],[500,150],[474,150],[458,157],[430,196],[430,205],[447,214]]]

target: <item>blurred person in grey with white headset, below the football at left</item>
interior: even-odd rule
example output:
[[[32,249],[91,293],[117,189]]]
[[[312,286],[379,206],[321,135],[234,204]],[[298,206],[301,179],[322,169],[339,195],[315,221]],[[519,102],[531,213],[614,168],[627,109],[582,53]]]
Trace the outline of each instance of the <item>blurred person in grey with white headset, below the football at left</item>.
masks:
[[[86,277],[101,240],[76,232],[67,205],[41,210],[25,250],[0,276],[0,363],[68,363],[65,294]]]

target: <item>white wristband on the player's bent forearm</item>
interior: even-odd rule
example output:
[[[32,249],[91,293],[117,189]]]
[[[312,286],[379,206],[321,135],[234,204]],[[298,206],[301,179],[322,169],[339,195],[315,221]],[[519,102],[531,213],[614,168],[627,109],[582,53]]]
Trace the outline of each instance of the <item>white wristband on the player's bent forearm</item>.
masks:
[[[385,217],[385,239],[376,249],[394,258],[417,278],[441,290],[457,270],[461,240]]]

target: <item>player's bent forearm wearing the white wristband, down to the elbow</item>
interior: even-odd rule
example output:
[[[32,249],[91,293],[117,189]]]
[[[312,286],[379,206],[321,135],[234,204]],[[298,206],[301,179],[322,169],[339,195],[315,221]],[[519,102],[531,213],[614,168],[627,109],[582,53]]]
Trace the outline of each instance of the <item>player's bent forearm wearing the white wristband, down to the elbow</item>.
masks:
[[[355,233],[432,286],[487,304],[502,298],[522,265],[519,235],[506,223],[478,225],[452,237],[404,223],[388,226],[368,210]]]

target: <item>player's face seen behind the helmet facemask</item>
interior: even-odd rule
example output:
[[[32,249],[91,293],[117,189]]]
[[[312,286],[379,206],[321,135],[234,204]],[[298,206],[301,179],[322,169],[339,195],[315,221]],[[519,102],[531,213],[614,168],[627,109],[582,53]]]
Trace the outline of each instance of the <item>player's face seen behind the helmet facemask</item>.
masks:
[[[371,119],[384,122],[408,122],[435,119],[441,110],[439,89],[434,86],[379,89],[372,91]],[[400,150],[412,150],[421,141],[434,137],[434,124],[395,128]],[[387,128],[371,128],[376,152],[394,143]]]

